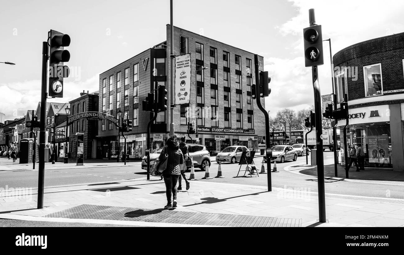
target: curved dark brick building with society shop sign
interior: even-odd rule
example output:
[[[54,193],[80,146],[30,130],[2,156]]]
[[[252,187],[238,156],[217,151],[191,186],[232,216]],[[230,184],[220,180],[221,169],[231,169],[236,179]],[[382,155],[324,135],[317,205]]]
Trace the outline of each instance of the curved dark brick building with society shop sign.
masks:
[[[365,167],[404,171],[404,33],[351,45],[333,62],[337,100],[348,98],[348,145],[363,144]]]

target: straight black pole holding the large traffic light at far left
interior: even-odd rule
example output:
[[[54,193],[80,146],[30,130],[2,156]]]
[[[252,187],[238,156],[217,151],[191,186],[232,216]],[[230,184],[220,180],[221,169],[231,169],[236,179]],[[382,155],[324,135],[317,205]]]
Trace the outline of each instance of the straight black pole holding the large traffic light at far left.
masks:
[[[41,119],[39,131],[39,171],[38,171],[38,209],[44,208],[45,183],[45,142],[46,142],[46,83],[48,81],[46,66],[48,63],[48,42],[42,42],[42,87],[41,87]]]

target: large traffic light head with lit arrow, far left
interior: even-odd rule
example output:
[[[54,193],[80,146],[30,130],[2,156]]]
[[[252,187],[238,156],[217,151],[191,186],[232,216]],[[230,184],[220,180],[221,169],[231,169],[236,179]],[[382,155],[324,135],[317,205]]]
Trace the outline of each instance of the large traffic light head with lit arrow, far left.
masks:
[[[63,78],[69,77],[69,67],[64,66],[63,62],[70,60],[70,52],[64,47],[70,45],[70,36],[50,30],[49,45],[48,96],[63,97]]]

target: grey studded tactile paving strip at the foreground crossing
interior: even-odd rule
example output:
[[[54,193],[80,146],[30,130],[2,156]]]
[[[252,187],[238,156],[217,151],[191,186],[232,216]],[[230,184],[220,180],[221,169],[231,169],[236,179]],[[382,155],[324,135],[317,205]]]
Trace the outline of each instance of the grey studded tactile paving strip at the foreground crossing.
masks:
[[[301,227],[301,219],[142,209],[105,205],[78,205],[44,217],[109,219],[226,227]]]

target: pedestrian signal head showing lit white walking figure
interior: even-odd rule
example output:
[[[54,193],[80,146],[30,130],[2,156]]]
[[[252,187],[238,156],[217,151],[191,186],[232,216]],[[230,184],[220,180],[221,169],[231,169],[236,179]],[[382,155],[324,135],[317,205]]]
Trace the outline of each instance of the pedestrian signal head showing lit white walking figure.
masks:
[[[306,67],[323,65],[323,36],[321,33],[321,25],[303,29],[303,38]]]

